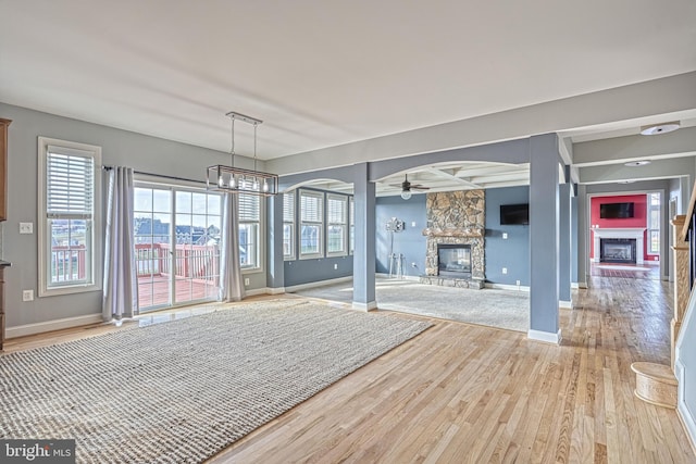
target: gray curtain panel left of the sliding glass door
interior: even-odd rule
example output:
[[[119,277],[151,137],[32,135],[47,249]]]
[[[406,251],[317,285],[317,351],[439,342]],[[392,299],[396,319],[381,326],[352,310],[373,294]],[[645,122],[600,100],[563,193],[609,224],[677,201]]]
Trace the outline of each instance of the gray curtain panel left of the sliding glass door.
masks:
[[[133,196],[133,168],[114,166],[109,172],[102,316],[117,324],[138,314]]]

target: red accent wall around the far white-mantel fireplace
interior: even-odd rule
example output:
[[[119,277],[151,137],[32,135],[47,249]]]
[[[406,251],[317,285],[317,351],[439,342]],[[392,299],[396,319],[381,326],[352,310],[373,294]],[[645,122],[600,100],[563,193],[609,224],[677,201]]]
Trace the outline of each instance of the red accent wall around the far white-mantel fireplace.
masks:
[[[599,228],[631,228],[631,227],[647,227],[647,195],[622,195],[612,197],[592,197],[589,202],[589,224],[591,228],[595,226]],[[625,220],[602,220],[599,217],[599,205],[604,203],[630,203],[633,202],[633,217]],[[659,255],[648,254],[648,233],[647,230],[643,237],[643,253],[645,254],[645,261],[658,261]],[[589,234],[589,258],[595,258],[595,234]]]

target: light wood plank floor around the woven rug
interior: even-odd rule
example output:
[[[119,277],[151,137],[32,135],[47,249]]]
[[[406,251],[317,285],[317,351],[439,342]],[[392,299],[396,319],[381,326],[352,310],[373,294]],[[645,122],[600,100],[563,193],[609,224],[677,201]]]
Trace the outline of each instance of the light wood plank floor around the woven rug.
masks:
[[[596,276],[589,284],[574,310],[561,310],[560,347],[432,319],[431,329],[210,462],[696,463],[676,413],[633,394],[632,362],[669,361],[669,286]]]

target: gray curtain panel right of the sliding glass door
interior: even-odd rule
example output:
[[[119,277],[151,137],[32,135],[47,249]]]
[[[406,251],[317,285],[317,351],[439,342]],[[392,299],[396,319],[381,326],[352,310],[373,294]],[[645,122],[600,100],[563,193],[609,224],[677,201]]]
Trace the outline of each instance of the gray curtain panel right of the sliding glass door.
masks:
[[[244,299],[239,265],[239,197],[225,193],[222,212],[222,249],[220,251],[220,301]]]

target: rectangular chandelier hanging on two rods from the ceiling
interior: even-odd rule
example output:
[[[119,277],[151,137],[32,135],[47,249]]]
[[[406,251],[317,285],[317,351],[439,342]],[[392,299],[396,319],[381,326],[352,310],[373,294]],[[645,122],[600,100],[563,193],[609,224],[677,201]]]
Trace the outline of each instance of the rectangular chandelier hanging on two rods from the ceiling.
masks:
[[[208,166],[206,184],[208,190],[237,193],[259,195],[270,197],[278,192],[278,176],[276,174],[257,171],[257,126],[263,121],[231,111],[225,116],[232,120],[232,149],[229,166],[216,164]],[[253,125],[253,171],[235,167],[235,121],[243,121]]]

